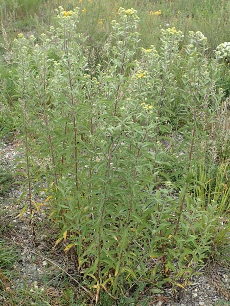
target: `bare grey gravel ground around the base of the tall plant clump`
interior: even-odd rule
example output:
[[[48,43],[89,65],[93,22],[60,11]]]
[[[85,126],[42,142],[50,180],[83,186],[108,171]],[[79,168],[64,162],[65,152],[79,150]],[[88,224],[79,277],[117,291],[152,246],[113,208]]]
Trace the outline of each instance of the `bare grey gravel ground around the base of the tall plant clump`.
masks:
[[[18,143],[0,143],[0,165],[10,172],[16,168],[15,159],[21,152],[17,151]],[[19,250],[19,261],[15,263],[13,279],[15,289],[27,282],[28,286],[34,282],[42,284],[44,277],[48,277],[49,290],[59,285],[65,272],[74,277],[74,267],[71,260],[62,253],[62,245],[53,249],[56,231],[47,221],[49,207],[42,207],[34,213],[36,220],[37,243],[32,243],[32,234],[28,224],[29,212],[18,216],[26,202],[20,199],[21,191],[18,185],[12,185],[9,192],[0,196],[0,225],[2,236],[9,245]],[[42,200],[42,199],[37,199]],[[52,224],[52,227],[54,224]],[[62,270],[64,269],[64,271]],[[172,301],[170,289],[163,295],[155,296],[150,305],[157,306],[227,306],[230,302],[230,270],[213,263],[206,264],[201,274],[194,276],[191,285],[185,290],[179,302]],[[1,304],[1,301],[0,301]],[[56,305],[58,306],[58,305]],[[111,305],[112,306],[112,305]]]

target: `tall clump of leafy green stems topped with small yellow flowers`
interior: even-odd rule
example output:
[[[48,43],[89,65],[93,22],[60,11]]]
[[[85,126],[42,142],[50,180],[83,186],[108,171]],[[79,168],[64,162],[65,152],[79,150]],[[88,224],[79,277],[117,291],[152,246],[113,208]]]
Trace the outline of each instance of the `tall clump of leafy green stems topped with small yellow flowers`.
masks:
[[[142,48],[137,60],[140,18],[120,8],[103,66],[91,69],[77,28],[87,9],[56,12],[56,27],[38,39],[20,33],[14,43],[31,215],[33,182],[45,176],[44,202],[52,203],[50,217],[61,227],[56,245],[63,240],[65,252],[74,250],[81,288],[93,291],[96,303],[103,294],[116,300],[122,288],[131,293],[144,280],[159,290],[167,283],[177,294],[212,244],[224,244],[230,226],[219,223],[228,212],[228,157],[210,196],[202,189],[209,177],[196,174],[223,97],[223,63],[206,57],[200,31],[185,37],[175,27],[161,31],[159,52]],[[174,151],[178,176],[167,172],[163,145],[173,130],[182,135]]]

